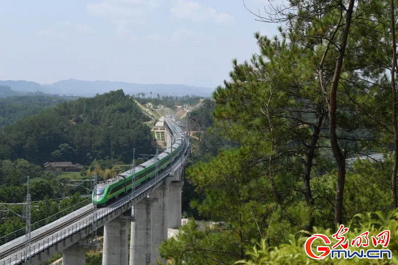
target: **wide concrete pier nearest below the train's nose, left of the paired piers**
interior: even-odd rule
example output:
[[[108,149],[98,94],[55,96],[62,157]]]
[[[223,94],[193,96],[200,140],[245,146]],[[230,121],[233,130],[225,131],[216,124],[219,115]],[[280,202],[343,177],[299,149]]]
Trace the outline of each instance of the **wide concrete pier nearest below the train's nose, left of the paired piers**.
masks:
[[[127,222],[118,217],[103,226],[102,265],[126,265],[127,263]]]

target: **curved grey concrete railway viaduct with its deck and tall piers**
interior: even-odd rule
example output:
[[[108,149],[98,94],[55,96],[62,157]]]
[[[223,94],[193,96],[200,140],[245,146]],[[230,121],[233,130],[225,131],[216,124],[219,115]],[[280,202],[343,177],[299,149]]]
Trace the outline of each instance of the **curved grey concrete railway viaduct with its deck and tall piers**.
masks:
[[[166,118],[165,126],[176,136],[179,127],[175,122]],[[169,145],[171,135],[167,136]],[[0,246],[0,265],[38,265],[60,252],[63,265],[84,265],[86,251],[98,247],[87,238],[102,226],[103,265],[156,264],[160,259],[158,247],[167,239],[168,228],[181,226],[183,168],[189,150],[185,135],[182,143],[183,151],[171,165],[130,194],[96,211],[90,203],[32,231],[30,245],[22,236]]]

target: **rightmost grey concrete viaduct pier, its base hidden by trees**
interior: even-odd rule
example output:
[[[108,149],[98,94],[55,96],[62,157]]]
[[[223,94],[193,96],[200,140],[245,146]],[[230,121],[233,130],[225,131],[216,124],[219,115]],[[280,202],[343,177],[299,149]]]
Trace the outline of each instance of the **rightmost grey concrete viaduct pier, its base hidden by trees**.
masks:
[[[179,228],[181,226],[183,181],[173,181],[169,185],[167,227]]]

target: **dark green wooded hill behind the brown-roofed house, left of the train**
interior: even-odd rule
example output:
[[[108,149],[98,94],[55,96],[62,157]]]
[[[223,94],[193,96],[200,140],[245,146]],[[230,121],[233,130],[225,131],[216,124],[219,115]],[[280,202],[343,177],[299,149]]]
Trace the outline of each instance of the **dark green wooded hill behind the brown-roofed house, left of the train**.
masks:
[[[153,152],[148,118],[122,90],[94,98],[61,103],[4,127],[0,133],[0,160],[24,158],[41,164],[94,159],[132,160],[137,153]]]

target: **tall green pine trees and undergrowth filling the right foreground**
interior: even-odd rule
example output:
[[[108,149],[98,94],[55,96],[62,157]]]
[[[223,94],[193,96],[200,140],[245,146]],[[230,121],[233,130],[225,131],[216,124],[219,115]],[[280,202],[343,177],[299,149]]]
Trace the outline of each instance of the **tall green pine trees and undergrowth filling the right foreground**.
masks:
[[[175,265],[314,264],[306,237],[345,224],[350,239],[391,230],[396,257],[396,1],[273,7],[257,19],[281,24],[278,36],[256,33],[258,51],[233,60],[213,93],[213,126],[234,145],[187,170],[198,197],[191,206],[219,223],[192,221],[161,253]],[[346,162],[370,152],[385,159]]]

